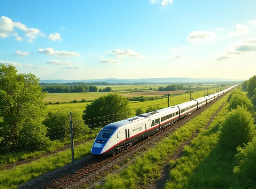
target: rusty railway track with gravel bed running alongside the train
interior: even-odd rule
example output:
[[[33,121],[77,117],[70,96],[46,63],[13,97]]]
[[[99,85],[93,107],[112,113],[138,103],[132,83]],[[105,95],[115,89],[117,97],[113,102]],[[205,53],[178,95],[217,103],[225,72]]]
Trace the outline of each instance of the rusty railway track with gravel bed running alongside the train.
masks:
[[[221,99],[223,96],[225,96],[227,93],[222,95],[220,98],[214,100],[213,102],[205,105],[201,109],[197,110],[196,112],[188,115],[187,117],[183,118],[182,120],[174,123],[173,125],[165,128],[164,130],[157,132],[153,136],[142,140],[141,142],[137,143],[136,145],[128,148],[127,150],[123,151],[120,154],[117,154],[116,156],[112,156],[109,158],[102,158],[102,157],[95,157],[93,156],[91,159],[88,159],[86,162],[81,163],[84,165],[83,168],[78,169],[75,172],[72,172],[64,177],[61,177],[55,181],[51,180],[56,176],[60,175],[61,173],[54,175],[50,178],[45,179],[44,181],[41,181],[38,184],[31,185],[29,188],[77,188],[76,185],[85,185],[91,183],[95,178],[102,176],[106,171],[111,170],[113,168],[113,165],[121,163],[126,158],[130,157],[134,153],[138,151],[142,151],[143,148],[151,145],[152,143],[158,141],[160,138],[165,137],[168,133],[174,132],[177,128],[179,128],[181,125],[184,125],[187,123],[190,119],[201,113],[202,111],[206,110],[208,107],[210,107],[212,104],[217,102],[219,99]],[[70,171],[70,170],[69,170]],[[83,181],[82,181],[83,180]],[[49,183],[50,182],[50,183]],[[46,184],[43,184],[46,183]],[[42,185],[43,184],[43,185]]]

